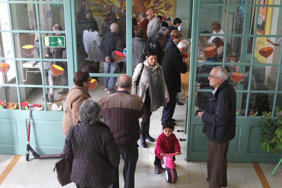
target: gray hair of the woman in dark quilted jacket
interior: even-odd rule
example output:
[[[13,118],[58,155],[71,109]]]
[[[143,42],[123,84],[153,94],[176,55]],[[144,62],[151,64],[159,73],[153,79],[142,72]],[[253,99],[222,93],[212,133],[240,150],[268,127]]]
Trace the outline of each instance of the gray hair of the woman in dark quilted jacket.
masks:
[[[92,125],[100,120],[102,109],[100,104],[90,98],[82,102],[79,107],[79,121]]]

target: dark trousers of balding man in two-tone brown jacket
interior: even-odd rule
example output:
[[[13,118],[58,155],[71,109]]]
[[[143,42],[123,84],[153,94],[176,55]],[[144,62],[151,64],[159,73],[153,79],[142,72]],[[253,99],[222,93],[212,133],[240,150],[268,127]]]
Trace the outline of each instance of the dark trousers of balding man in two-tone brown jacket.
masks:
[[[134,145],[118,145],[118,149],[124,160],[124,188],[134,188],[134,175],[136,169],[136,163],[138,160],[138,146]],[[119,170],[115,169],[116,180],[113,183],[113,188],[119,188]]]

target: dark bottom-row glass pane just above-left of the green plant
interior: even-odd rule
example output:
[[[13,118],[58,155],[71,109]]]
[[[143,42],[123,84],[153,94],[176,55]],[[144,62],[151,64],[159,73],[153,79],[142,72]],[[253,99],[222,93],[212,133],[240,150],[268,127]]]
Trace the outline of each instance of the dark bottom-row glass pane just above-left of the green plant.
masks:
[[[270,112],[273,107],[274,94],[250,93],[248,115],[261,116],[263,111]]]

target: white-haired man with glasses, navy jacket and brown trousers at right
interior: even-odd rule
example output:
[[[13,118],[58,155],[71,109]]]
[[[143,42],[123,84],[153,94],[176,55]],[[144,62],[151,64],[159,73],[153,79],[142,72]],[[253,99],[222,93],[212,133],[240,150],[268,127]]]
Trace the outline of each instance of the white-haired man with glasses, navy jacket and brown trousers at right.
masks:
[[[204,123],[208,138],[208,182],[210,188],[227,186],[227,151],[229,141],[235,137],[236,92],[228,82],[227,70],[214,67],[208,77],[215,89],[198,116]]]

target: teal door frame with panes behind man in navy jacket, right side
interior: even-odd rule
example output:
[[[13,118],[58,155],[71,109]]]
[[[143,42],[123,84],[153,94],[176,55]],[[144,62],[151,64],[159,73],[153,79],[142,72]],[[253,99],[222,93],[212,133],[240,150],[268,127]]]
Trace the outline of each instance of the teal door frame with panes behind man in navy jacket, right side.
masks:
[[[259,1],[258,1],[259,3]],[[246,7],[256,7],[259,8],[260,5],[240,5],[240,4],[231,4],[231,1],[228,0],[228,4],[222,3],[202,3],[198,0],[193,0],[193,16],[192,16],[192,32],[191,32],[191,63],[190,63],[190,83],[189,83],[189,99],[188,99],[188,121],[185,125],[186,129],[186,160],[187,161],[206,161],[207,156],[207,143],[208,139],[205,134],[202,133],[203,123],[201,119],[194,112],[194,100],[195,100],[195,92],[211,92],[211,90],[207,89],[196,89],[196,78],[197,76],[208,76],[206,75],[196,75],[197,65],[206,65],[210,63],[205,62],[197,62],[197,53],[198,53],[198,38],[199,36],[215,36],[215,34],[199,34],[199,19],[200,19],[200,7],[201,5],[207,6],[227,6],[227,18],[226,18],[226,28],[228,31],[228,16],[229,16],[229,8],[232,6],[243,6],[246,9],[246,14],[250,14],[247,11]],[[279,7],[282,8],[282,5],[263,5],[264,7]],[[247,16],[244,17],[244,26],[248,25]],[[258,19],[258,11],[255,19],[255,26],[257,28],[257,19]],[[282,48],[280,52],[279,63],[277,64],[264,64],[264,63],[254,63],[254,49],[255,49],[255,37],[256,29],[254,34],[246,33],[248,30],[246,28],[243,29],[243,34],[217,34],[216,36],[225,36],[227,37],[243,37],[243,40],[248,37],[254,37],[252,44],[252,57],[251,63],[225,63],[226,50],[224,50],[223,54],[223,62],[212,63],[213,65],[240,65],[240,67],[251,66],[250,75],[252,75],[252,68],[254,66],[274,66],[278,67],[278,74],[276,80],[276,88],[274,91],[257,91],[251,90],[251,76],[249,78],[248,90],[243,90],[239,87],[237,92],[237,99],[240,98],[240,95],[243,93],[247,93],[247,101],[246,101],[246,112],[248,112],[248,104],[250,101],[250,95],[252,93],[271,93],[274,94],[274,104],[272,109],[272,117],[274,117],[274,107],[276,105],[277,95],[282,94],[281,91],[278,91],[280,72],[281,72],[281,61],[282,61]],[[282,35],[259,35],[259,37],[282,37]],[[243,41],[244,42],[244,41]],[[246,48],[243,46],[242,42],[242,53]],[[226,49],[227,40],[224,40],[224,49]],[[241,57],[246,59],[245,56]],[[244,62],[244,60],[243,60]],[[238,107],[238,106],[237,106]],[[239,106],[240,107],[240,106]],[[240,107],[241,108],[241,107]],[[281,159],[281,154],[277,154],[273,156],[271,153],[261,151],[261,138],[260,138],[260,127],[259,121],[261,117],[249,117],[248,113],[245,113],[245,116],[236,116],[236,136],[230,141],[229,151],[228,151],[228,162],[265,162],[265,163],[277,163]]]

